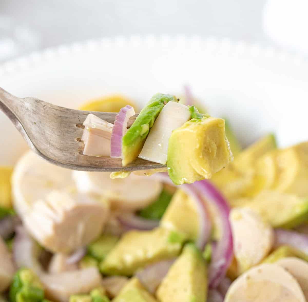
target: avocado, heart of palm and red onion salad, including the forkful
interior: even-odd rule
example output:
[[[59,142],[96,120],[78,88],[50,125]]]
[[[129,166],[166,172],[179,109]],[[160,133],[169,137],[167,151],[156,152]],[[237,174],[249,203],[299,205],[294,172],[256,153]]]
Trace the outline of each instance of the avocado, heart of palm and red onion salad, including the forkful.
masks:
[[[156,94],[129,129],[124,97],[82,109],[119,112],[114,125],[89,115],[82,140],[124,172],[32,151],[0,167],[1,302],[308,300],[308,142],[243,149],[189,89]],[[126,173],[138,156],[166,169]]]

